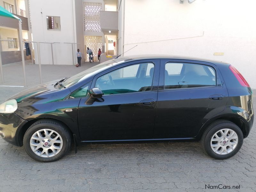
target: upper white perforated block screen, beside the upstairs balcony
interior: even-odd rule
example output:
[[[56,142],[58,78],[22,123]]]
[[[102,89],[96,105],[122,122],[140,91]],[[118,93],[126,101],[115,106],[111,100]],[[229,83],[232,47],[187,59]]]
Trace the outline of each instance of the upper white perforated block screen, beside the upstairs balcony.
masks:
[[[84,2],[84,31],[100,32],[101,3]]]

